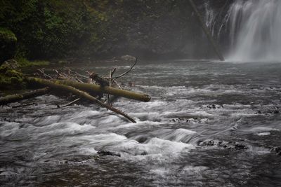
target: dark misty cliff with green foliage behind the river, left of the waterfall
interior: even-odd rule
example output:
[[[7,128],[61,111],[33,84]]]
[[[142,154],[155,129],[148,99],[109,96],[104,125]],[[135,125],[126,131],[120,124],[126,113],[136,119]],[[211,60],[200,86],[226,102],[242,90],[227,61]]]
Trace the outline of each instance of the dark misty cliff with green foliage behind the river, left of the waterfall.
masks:
[[[196,1],[220,11],[226,1]],[[187,1],[19,0],[0,2],[0,25],[18,53],[53,57],[214,57]]]

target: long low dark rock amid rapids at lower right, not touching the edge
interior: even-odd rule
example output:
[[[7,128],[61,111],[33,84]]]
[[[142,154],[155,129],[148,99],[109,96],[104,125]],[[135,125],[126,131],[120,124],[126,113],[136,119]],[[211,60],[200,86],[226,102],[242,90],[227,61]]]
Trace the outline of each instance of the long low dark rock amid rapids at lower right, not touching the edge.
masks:
[[[227,148],[230,150],[245,150],[249,149],[247,145],[240,144],[239,142],[232,141],[219,141],[219,140],[210,140],[201,141],[199,146],[217,146],[220,148]]]

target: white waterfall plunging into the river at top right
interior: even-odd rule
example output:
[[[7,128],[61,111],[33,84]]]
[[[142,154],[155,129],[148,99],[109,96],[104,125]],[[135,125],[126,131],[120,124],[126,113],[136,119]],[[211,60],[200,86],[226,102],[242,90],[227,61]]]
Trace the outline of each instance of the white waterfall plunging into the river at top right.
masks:
[[[280,0],[237,0],[230,5],[221,23],[218,22],[219,14],[211,16],[211,20],[208,15],[210,13],[207,13],[206,21],[212,33],[217,33],[221,40],[226,36],[230,38],[228,60],[281,60]]]

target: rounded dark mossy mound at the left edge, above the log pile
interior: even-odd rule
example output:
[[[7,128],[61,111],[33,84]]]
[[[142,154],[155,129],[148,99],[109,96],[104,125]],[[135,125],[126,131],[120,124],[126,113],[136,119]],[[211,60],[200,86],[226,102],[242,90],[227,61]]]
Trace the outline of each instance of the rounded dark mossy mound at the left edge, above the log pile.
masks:
[[[15,55],[17,38],[11,30],[0,27],[0,65]]]

